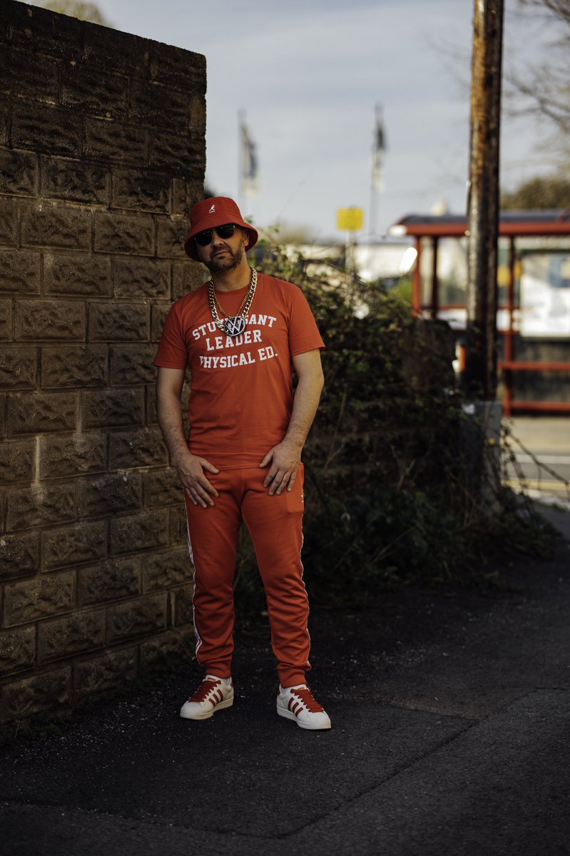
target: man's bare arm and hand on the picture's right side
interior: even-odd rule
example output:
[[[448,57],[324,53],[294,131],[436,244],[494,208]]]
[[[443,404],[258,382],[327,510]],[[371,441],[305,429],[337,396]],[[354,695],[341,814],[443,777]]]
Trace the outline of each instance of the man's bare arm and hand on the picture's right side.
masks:
[[[312,420],[317,413],[318,401],[323,391],[324,377],[320,351],[306,351],[293,357],[297,375],[297,389],[293,400],[293,412],[285,437],[265,455],[260,467],[270,469],[264,479],[270,496],[279,495],[285,488],[291,490],[297,477],[300,455],[305,445]]]

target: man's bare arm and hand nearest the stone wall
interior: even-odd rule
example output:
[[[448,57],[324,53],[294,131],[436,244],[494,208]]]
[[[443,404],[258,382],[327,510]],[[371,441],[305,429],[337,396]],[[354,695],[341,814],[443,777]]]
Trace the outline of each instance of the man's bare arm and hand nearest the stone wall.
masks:
[[[213,505],[212,496],[216,488],[206,479],[205,471],[217,473],[210,461],[192,455],[188,450],[181,411],[181,392],[184,369],[158,367],[157,373],[157,417],[164,442],[168,446],[172,464],[178,478],[194,505],[207,508]]]

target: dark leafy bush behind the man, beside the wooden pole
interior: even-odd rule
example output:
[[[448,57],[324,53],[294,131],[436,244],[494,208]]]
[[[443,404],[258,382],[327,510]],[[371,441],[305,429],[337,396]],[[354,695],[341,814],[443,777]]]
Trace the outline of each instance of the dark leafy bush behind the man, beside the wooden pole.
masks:
[[[484,426],[464,412],[447,324],[413,318],[379,284],[312,272],[300,255],[265,249],[258,267],[303,288],[327,346],[304,454],[313,601],[364,603],[385,586],[466,578],[508,550],[547,547],[530,503],[502,488]],[[263,602],[246,535],[236,590]]]

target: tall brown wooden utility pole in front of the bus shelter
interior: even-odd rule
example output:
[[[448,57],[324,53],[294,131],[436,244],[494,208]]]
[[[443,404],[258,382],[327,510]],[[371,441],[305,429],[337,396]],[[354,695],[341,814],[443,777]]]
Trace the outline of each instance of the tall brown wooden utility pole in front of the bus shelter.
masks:
[[[466,392],[496,395],[503,0],[475,0],[467,242]]]

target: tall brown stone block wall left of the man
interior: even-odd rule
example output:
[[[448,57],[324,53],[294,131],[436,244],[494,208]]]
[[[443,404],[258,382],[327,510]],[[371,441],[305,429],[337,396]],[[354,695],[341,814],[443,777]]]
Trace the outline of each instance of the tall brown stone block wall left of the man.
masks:
[[[0,6],[0,721],[191,647],[151,365],[198,283],[205,59]]]

